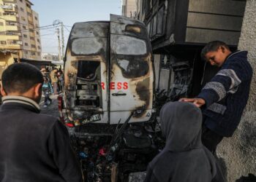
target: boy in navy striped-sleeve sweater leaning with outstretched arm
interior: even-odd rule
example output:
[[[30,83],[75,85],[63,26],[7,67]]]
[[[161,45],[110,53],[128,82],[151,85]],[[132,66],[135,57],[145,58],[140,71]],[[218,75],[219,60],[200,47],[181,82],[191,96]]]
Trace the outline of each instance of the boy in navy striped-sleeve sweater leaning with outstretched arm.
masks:
[[[238,127],[249,98],[252,67],[246,51],[231,52],[222,41],[211,41],[201,56],[219,72],[196,98],[181,98],[203,108],[203,144],[214,152],[223,137],[230,137]]]

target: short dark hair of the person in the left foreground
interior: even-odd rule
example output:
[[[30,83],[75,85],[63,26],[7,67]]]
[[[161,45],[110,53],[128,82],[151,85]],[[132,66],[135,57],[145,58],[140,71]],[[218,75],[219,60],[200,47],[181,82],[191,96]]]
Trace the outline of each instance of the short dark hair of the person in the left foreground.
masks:
[[[41,71],[29,63],[13,63],[1,76],[4,91],[24,93],[34,84],[43,83]]]

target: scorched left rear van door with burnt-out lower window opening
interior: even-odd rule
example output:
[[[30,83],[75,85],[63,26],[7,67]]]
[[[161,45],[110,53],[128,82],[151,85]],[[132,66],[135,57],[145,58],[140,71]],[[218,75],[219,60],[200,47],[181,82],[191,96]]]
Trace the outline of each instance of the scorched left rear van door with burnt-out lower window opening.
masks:
[[[108,33],[107,22],[75,23],[70,32],[64,59],[64,106],[76,125],[91,121],[95,114],[101,114],[100,122],[108,121],[107,93],[101,86],[107,78]],[[86,66],[83,62],[98,62],[95,73],[81,70]]]

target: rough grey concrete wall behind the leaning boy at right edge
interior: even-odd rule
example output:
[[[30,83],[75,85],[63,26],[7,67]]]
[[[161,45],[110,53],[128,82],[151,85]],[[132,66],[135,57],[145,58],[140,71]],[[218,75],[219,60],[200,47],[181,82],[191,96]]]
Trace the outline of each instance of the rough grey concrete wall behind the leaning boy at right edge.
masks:
[[[242,175],[256,175],[256,0],[246,1],[239,50],[248,50],[248,59],[254,70],[249,101],[244,116],[232,138],[225,138],[217,149],[217,156],[226,167],[227,181],[236,181]]]

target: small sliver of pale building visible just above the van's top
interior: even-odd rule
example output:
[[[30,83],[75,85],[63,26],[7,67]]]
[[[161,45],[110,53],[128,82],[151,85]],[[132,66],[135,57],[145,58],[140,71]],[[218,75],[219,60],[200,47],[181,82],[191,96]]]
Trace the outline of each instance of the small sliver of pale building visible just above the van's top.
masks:
[[[125,17],[137,17],[138,0],[122,0],[122,15]]]

